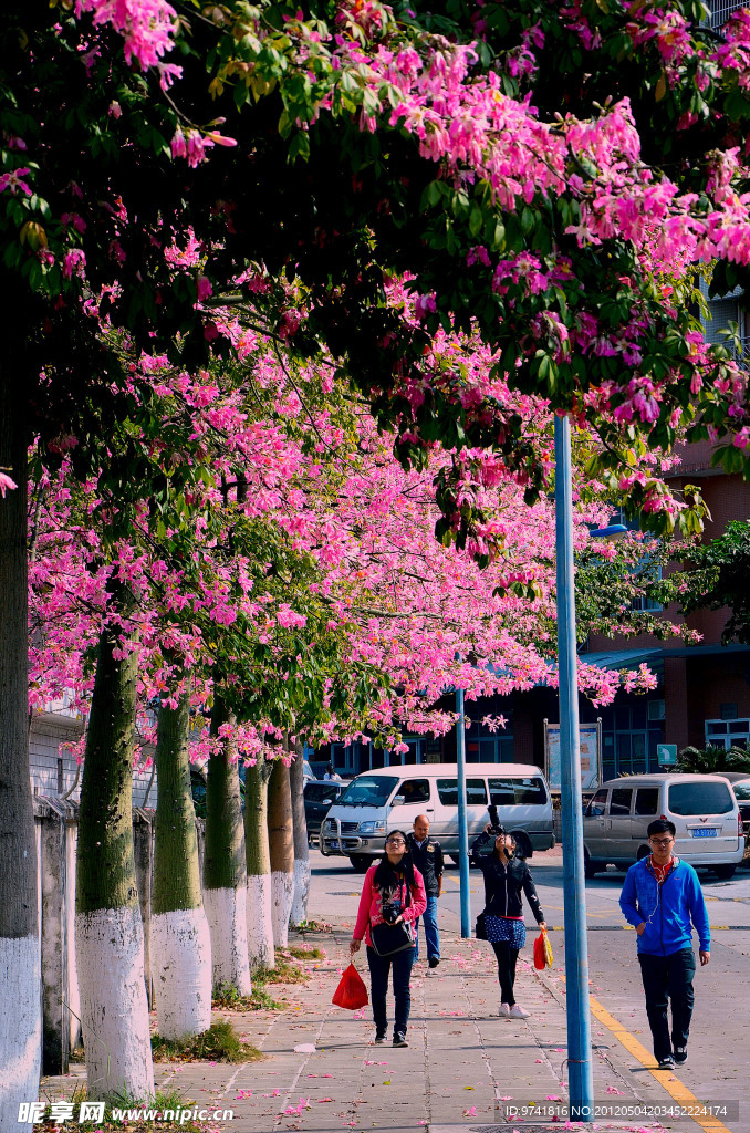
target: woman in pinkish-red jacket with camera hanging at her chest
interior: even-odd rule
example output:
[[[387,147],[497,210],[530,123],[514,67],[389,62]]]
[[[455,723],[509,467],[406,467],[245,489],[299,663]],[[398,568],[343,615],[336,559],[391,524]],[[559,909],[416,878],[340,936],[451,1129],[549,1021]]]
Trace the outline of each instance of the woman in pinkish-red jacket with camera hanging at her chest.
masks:
[[[385,996],[393,969],[395,1023],[393,1046],[408,1047],[407,1024],[411,1007],[411,965],[415,936],[412,921],[427,908],[421,874],[407,852],[403,830],[391,830],[385,838],[385,854],[365,875],[357,923],[349,951],[359,952],[367,940],[367,963],[375,1020],[375,1041],[385,1042],[387,1015]]]

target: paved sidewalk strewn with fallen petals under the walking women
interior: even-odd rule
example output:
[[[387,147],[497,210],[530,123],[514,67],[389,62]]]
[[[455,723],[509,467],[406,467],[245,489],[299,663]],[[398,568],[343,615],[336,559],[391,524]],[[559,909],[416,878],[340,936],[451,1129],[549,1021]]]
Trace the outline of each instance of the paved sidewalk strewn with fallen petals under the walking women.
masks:
[[[491,1133],[497,1125],[536,1133],[565,1127],[564,1118],[556,1124],[529,1117],[508,1123],[505,1115],[509,1105],[549,1105],[568,1098],[564,982],[557,966],[544,973],[530,966],[532,932],[519,959],[517,979],[518,1000],[531,1012],[530,1019],[497,1017],[497,978],[487,944],[441,934],[440,968],[429,972],[424,961],[415,968],[410,1045],[394,1049],[390,1041],[373,1045],[369,1007],[352,1014],[331,1004],[342,965],[348,963],[350,931],[350,925],[338,925],[332,934],[305,936],[307,944],[324,948],[326,956],[312,961],[307,985],[269,988],[274,998],[288,1000],[287,1010],[215,1013],[216,1019],[232,1019],[242,1038],[263,1050],[263,1062],[239,1066],[160,1063],[155,1066],[157,1087],[179,1090],[198,1107],[233,1109],[227,1133],[334,1133],[342,1128]],[[368,982],[361,953],[357,962]],[[392,1020],[392,1000],[389,1011]],[[672,1083],[675,1077],[657,1072],[657,1080],[621,1045],[606,1021],[593,1020],[593,1039],[597,1102],[615,1107],[638,1100],[660,1106],[673,1102],[662,1077]],[[310,1046],[315,1049],[295,1049]],[[85,1073],[83,1066],[73,1070],[70,1077],[48,1079],[43,1093],[69,1096]],[[680,1089],[679,1082],[674,1089]],[[692,1119],[675,1125],[662,1116],[659,1124],[621,1114],[622,1109],[615,1110],[594,1127],[638,1133],[699,1128]],[[721,1123],[702,1127],[724,1128]]]

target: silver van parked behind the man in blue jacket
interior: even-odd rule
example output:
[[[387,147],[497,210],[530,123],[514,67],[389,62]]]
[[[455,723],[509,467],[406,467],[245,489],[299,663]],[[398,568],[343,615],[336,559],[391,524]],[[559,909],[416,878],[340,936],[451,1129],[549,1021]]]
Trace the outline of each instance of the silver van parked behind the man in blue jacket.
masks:
[[[583,812],[586,876],[607,864],[628,869],[651,852],[655,818],[676,827],[674,852],[726,880],[744,855],[742,816],[721,775],[629,775],[598,789]]]

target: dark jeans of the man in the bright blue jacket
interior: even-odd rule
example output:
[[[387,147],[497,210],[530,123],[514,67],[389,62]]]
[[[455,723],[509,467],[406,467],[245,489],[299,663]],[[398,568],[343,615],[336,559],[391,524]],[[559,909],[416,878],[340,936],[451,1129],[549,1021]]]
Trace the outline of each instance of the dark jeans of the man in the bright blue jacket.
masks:
[[[668,956],[651,956],[641,952],[638,960],[646,993],[646,1013],[654,1037],[654,1054],[660,1060],[672,1054],[673,1047],[688,1046],[696,956],[692,948],[681,948]],[[672,1045],[667,997],[672,1000]]]

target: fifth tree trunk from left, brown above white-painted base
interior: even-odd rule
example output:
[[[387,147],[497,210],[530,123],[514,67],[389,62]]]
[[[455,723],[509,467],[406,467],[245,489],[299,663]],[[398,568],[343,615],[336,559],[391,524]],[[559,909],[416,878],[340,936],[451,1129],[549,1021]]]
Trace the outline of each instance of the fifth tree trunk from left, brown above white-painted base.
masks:
[[[273,901],[269,854],[269,778],[271,764],[261,757],[245,777],[247,853],[247,948],[253,968],[275,968]]]

